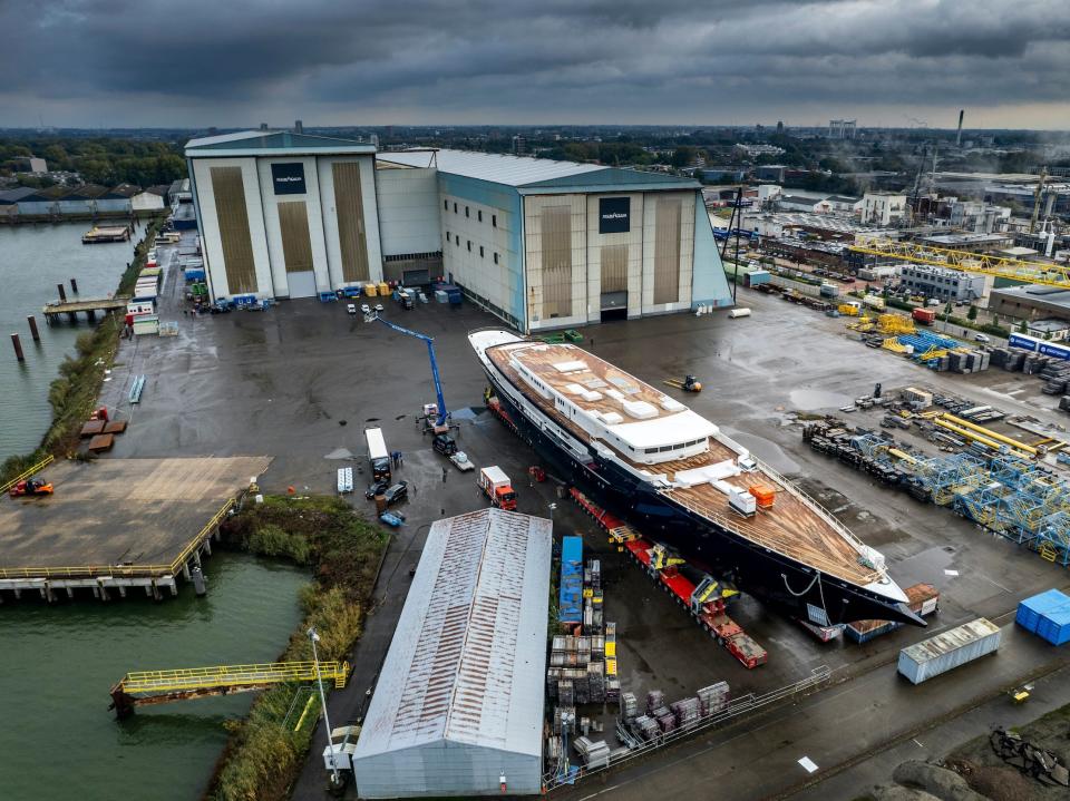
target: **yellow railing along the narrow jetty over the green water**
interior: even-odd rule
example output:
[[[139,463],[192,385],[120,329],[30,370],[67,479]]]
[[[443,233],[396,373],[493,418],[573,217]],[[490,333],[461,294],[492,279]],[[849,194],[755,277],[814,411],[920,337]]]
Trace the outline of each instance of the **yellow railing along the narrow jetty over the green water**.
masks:
[[[321,662],[319,676],[334,682],[335,688],[346,686],[348,662]],[[184,667],[174,671],[137,671],[127,673],[119,682],[125,693],[171,693],[195,690],[220,690],[249,684],[282,684],[317,680],[314,662],[269,662],[257,665],[216,665],[214,667]]]

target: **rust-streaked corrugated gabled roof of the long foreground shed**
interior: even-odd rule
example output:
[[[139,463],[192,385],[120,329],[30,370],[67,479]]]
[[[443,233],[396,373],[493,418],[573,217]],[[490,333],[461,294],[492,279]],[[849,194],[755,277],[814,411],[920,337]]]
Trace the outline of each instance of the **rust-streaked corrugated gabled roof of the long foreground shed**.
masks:
[[[354,759],[444,740],[541,753],[551,531],[500,509],[431,526]]]

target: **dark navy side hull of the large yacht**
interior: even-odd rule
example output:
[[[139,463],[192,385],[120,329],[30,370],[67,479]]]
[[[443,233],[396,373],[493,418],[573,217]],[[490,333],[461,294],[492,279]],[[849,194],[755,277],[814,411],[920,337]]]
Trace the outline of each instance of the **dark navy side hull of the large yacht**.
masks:
[[[494,378],[488,374],[488,379],[495,385]],[[925,625],[905,604],[819,575],[815,568],[755,545],[679,506],[594,451],[588,460],[576,459],[555,434],[529,420],[497,387],[496,394],[521,438],[554,475],[628,519],[644,536],[675,548],[689,561],[735,582],[762,603],[818,625],[869,619]]]

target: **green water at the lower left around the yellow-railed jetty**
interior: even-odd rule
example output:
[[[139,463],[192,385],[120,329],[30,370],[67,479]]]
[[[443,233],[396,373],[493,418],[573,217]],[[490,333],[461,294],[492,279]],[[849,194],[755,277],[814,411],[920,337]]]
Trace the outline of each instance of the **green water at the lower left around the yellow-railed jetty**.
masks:
[[[205,563],[208,594],[0,606],[0,798],[189,801],[253,700],[143,707],[121,723],[111,685],[128,671],[271,662],[301,614],[308,575],[243,554]]]

